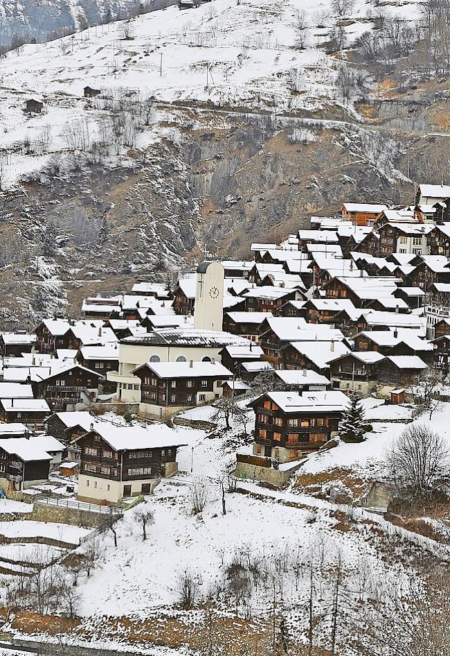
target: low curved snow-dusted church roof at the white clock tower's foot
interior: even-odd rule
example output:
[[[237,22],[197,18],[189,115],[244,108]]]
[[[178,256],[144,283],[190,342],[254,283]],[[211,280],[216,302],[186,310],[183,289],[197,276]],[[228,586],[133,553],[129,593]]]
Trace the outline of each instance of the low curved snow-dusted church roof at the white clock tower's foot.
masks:
[[[164,328],[151,333],[127,337],[122,344],[138,346],[192,346],[204,348],[219,348],[229,344],[249,344],[250,340],[240,335],[232,335],[219,330],[203,330],[179,328]]]

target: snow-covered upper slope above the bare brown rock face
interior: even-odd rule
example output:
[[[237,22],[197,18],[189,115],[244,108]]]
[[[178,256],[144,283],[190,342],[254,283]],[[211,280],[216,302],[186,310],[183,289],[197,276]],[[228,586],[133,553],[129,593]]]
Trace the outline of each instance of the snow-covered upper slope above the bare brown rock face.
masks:
[[[388,8],[408,19],[416,10],[409,3]],[[251,107],[275,114],[318,112],[339,103],[336,76],[343,64],[325,46],[338,28],[351,46],[372,27],[373,18],[372,7],[363,3],[349,11],[344,21],[327,1],[214,0],[197,9],[172,6],[130,23],[22,46],[18,55],[0,61],[3,189],[46,164],[55,151],[91,150],[94,143],[114,141],[117,152],[108,148],[108,155],[117,155],[158,140],[157,127],[153,135],[147,130],[155,117],[141,120],[150,97],[194,106],[213,101],[225,109]],[[87,101],[85,85],[102,95]],[[30,98],[44,103],[41,114],[25,113]],[[132,130],[139,123],[141,134],[118,139],[111,113],[125,101],[128,113],[130,103],[138,107],[141,116],[133,117]]]

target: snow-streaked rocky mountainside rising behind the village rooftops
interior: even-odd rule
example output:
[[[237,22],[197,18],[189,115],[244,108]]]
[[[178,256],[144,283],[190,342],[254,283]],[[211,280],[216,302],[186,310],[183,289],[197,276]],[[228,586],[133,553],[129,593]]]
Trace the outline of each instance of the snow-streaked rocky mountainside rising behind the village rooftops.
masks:
[[[415,25],[416,3],[383,10]],[[2,325],[165,278],[205,243],[244,257],[343,200],[413,202],[409,178],[440,179],[447,161],[434,156],[447,140],[428,132],[442,131],[449,84],[399,101],[369,74],[346,86],[365,33],[381,34],[366,4],[213,0],[8,53]],[[85,97],[88,85],[100,94]],[[30,100],[42,108],[27,112]]]

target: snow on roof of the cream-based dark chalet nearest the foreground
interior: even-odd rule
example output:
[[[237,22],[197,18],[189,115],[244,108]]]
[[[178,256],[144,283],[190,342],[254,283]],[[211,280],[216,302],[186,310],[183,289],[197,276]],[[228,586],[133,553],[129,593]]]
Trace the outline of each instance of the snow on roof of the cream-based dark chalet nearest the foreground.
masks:
[[[152,424],[144,428],[136,425],[114,426],[98,422],[94,430],[115,451],[164,449],[186,445],[186,440],[179,437],[178,431],[169,428],[166,424]],[[182,432],[180,431],[181,434]]]

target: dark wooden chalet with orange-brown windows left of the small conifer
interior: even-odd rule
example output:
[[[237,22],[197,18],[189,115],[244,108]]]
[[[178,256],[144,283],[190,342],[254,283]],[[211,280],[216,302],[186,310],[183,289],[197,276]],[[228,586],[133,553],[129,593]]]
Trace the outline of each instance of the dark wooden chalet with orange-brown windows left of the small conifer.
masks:
[[[255,412],[253,452],[282,463],[314,451],[337,431],[348,401],[341,392],[267,392]]]

